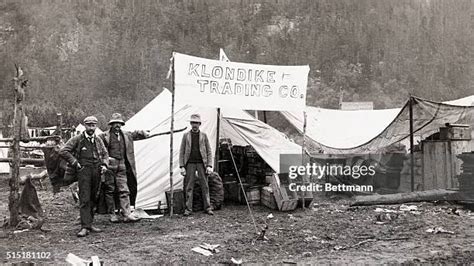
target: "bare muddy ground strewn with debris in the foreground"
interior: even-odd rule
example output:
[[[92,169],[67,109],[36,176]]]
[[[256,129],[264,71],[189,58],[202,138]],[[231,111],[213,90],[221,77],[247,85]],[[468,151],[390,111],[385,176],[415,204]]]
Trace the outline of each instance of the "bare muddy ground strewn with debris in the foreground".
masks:
[[[5,177],[0,181],[0,217],[5,217],[9,188]],[[289,213],[253,206],[259,228],[265,217],[274,216],[268,220],[265,241],[256,240],[244,205],[225,206],[215,216],[195,213],[134,224],[110,224],[107,217],[99,215],[96,225],[104,232],[77,238],[79,212],[70,192],[61,192],[56,199],[50,190],[38,189],[38,194],[47,217],[46,232],[3,229],[0,263],[64,264],[68,253],[81,258],[97,255],[106,263],[133,264],[228,264],[232,258],[243,263],[289,264],[474,262],[474,213],[450,203],[409,204],[418,210],[400,211],[400,205],[349,207],[350,198],[333,195],[318,198],[311,208]],[[377,212],[377,208],[385,212]],[[377,224],[377,220],[382,222]],[[427,232],[436,227],[452,234]],[[203,243],[220,245],[219,252],[205,257],[191,251]],[[7,252],[50,252],[51,257],[7,259]]]

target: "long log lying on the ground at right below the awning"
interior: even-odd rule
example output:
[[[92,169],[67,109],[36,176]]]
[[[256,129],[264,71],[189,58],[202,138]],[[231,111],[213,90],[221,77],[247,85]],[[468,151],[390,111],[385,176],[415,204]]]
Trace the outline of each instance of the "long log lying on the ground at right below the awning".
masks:
[[[407,193],[356,196],[350,206],[369,206],[382,204],[402,204],[407,202],[436,201],[436,200],[462,200],[458,191],[434,189]]]

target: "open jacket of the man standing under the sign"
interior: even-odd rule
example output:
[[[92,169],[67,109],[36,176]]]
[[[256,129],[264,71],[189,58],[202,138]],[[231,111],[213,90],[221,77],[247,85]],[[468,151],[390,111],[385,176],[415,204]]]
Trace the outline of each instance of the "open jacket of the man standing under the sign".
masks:
[[[199,151],[205,166],[212,167],[212,150],[206,133],[199,131]],[[191,155],[191,131],[184,133],[179,149],[179,167],[184,167]]]

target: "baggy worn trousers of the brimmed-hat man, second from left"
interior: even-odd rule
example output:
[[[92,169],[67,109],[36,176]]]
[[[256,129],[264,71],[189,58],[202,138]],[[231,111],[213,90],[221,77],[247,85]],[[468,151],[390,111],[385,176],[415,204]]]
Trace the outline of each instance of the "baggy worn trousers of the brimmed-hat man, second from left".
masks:
[[[118,192],[120,208],[123,215],[130,215],[130,191],[127,185],[127,169],[125,160],[109,158],[109,170],[112,175],[105,177],[105,202],[107,203],[107,213],[113,214],[115,211],[115,191]]]

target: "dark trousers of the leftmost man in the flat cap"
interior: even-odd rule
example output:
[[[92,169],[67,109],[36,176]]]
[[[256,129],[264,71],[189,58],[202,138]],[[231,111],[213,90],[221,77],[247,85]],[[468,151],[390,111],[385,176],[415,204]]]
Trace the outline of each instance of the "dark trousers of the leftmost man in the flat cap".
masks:
[[[82,228],[90,229],[94,220],[97,192],[100,184],[99,165],[84,165],[77,172]]]

